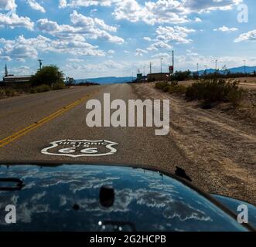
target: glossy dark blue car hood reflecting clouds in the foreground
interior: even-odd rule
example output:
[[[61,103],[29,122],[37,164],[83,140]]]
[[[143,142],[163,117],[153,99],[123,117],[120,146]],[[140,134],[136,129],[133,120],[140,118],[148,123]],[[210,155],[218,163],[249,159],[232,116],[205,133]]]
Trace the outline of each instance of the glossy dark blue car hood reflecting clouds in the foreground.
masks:
[[[2,187],[0,209],[15,205],[17,222],[7,225],[0,218],[0,231],[247,230],[200,191],[159,171],[114,165],[1,165],[0,178],[18,178],[24,185]],[[99,196],[104,187],[114,191],[108,206]]]

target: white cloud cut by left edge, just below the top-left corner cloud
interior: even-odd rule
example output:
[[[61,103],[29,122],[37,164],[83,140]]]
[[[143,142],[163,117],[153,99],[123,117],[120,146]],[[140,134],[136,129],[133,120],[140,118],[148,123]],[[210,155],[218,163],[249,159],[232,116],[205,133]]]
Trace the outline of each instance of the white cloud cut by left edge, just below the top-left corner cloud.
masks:
[[[12,15],[4,15],[0,13],[0,25],[9,26],[11,29],[19,27],[32,30],[34,27],[34,23],[29,17],[22,17],[15,13]]]

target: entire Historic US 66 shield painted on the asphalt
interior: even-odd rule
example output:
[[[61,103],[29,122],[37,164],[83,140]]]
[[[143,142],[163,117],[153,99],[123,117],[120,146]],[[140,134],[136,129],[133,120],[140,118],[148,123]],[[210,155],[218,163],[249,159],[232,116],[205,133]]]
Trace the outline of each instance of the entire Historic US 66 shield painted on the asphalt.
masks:
[[[83,157],[104,156],[115,154],[117,150],[113,147],[118,143],[110,140],[56,140],[50,142],[50,147],[44,148],[41,153],[46,155]]]

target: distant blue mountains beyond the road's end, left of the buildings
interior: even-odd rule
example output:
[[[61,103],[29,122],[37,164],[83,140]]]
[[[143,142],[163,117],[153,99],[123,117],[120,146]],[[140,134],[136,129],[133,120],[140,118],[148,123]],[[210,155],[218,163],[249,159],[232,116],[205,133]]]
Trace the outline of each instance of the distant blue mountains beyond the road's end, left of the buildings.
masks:
[[[75,80],[75,83],[100,83],[100,84],[111,84],[111,83],[129,83],[132,80],[135,80],[135,77],[125,76],[125,77],[99,77],[99,78],[87,78]]]

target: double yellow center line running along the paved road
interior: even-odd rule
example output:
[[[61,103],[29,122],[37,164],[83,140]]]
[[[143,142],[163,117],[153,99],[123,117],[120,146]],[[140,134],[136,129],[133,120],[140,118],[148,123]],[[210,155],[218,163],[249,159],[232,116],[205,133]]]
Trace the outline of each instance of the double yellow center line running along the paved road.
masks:
[[[91,97],[93,94],[95,94],[95,93],[90,93],[87,96],[84,96],[83,98],[81,98],[80,100],[70,103],[66,107],[62,107],[60,110],[57,110],[56,112],[50,114],[48,117],[44,117],[42,120],[39,120],[36,123],[32,123],[28,127],[25,127],[22,130],[15,132],[14,134],[10,135],[9,137],[5,137],[4,139],[0,140],[0,147],[4,147],[5,145],[18,139],[19,137],[22,137],[25,134],[29,133],[30,131],[40,127],[44,123],[47,123],[50,120],[53,120],[54,118],[59,117],[61,114],[67,112],[68,110],[71,110],[73,107],[76,107],[80,103],[83,103],[84,101],[88,100],[88,98]]]

